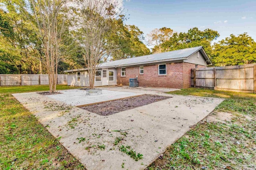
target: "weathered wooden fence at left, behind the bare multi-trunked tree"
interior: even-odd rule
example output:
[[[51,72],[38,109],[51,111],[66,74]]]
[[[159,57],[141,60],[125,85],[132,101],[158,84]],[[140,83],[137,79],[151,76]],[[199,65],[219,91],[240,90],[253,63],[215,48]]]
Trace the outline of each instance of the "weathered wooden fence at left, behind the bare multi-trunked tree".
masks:
[[[0,86],[49,84],[48,74],[0,74]],[[57,75],[57,84],[68,84],[67,74]]]

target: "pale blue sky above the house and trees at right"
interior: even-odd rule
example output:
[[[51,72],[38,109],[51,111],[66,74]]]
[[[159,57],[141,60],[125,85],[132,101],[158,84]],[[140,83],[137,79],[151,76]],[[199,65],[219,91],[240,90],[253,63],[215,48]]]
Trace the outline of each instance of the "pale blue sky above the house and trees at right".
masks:
[[[217,41],[247,32],[256,41],[256,0],[124,0],[126,24],[144,36],[154,28],[185,32],[192,27],[214,29]]]

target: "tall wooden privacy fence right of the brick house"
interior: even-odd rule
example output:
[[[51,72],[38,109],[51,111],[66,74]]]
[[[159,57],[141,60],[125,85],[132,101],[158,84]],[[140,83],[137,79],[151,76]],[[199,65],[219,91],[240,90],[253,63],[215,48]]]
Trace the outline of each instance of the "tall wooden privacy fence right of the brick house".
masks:
[[[191,69],[191,86],[256,93],[256,63]]]

